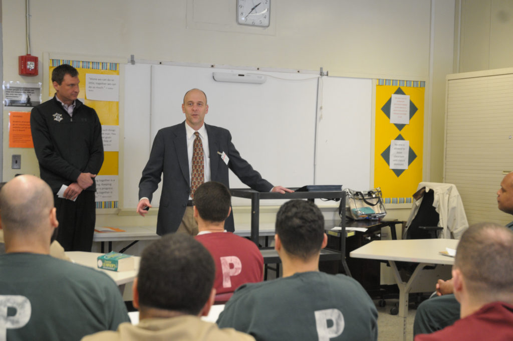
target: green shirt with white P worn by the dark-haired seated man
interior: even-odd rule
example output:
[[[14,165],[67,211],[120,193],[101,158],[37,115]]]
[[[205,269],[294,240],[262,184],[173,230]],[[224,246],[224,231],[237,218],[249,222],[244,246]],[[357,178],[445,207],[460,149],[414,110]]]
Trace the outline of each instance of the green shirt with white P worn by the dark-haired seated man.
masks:
[[[378,311],[360,283],[323,272],[249,283],[217,321],[257,341],[377,340]]]

